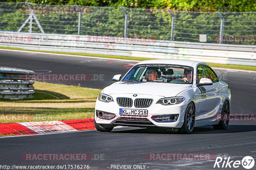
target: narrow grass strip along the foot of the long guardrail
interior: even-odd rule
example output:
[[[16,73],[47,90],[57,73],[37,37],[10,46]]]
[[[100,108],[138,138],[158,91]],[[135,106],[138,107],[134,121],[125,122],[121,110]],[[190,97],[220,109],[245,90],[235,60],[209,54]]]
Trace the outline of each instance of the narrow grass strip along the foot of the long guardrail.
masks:
[[[2,49],[12,49],[12,50],[24,50],[22,48],[12,48],[12,47],[0,47],[0,48],[2,48]],[[25,51],[37,51],[37,52],[44,52],[44,53],[82,55],[82,56],[104,57],[104,58],[115,58],[115,59],[126,59],[126,60],[138,60],[138,61],[154,59],[154,58],[127,57],[127,56],[118,56],[118,55],[89,54],[89,53],[70,53],[70,52],[38,51],[38,50],[25,50]],[[255,66],[243,66],[243,65],[233,65],[233,64],[215,64],[215,63],[207,63],[207,64],[211,67],[256,71]]]

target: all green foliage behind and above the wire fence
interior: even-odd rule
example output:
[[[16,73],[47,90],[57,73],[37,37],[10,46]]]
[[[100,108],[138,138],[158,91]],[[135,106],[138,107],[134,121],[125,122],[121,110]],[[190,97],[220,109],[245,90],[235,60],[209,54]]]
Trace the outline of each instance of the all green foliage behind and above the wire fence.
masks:
[[[11,0],[8,0],[11,1]],[[22,0],[17,0],[21,2]],[[209,10],[213,13],[174,12],[174,41],[199,42],[200,34],[207,34],[208,43],[219,43],[220,17],[214,13],[221,11],[224,18],[224,35],[255,35],[256,12],[228,13],[230,11],[256,11],[256,4],[247,1],[217,0],[31,0],[37,4],[85,5],[86,11],[81,14],[81,35],[124,36],[125,14],[120,8],[125,7],[128,13],[128,36],[146,36],[147,39],[170,40],[172,15],[161,7],[188,9],[194,7]],[[9,8],[8,8],[9,5]],[[22,11],[26,4],[0,4],[0,30],[18,31],[28,14]],[[46,6],[47,6],[46,5]],[[7,6],[7,7],[6,7]],[[37,5],[33,5],[37,6]],[[38,5],[41,6],[41,5]],[[100,7],[105,6],[105,7]],[[158,6],[154,10],[154,6]],[[127,8],[132,7],[132,8]],[[151,7],[151,8],[149,8]],[[175,8],[174,8],[175,9]],[[225,11],[228,11],[227,13]],[[38,21],[45,33],[77,34],[79,14],[38,13]],[[33,32],[40,32],[33,20]],[[22,32],[28,32],[29,23]],[[255,45],[251,42],[229,42],[229,44]]]

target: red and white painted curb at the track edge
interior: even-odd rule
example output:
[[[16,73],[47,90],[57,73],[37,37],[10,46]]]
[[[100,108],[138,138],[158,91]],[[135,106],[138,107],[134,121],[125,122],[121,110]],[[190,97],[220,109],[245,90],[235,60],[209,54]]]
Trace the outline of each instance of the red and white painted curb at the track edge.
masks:
[[[35,135],[94,129],[94,119],[91,118],[47,122],[0,123],[1,136]]]

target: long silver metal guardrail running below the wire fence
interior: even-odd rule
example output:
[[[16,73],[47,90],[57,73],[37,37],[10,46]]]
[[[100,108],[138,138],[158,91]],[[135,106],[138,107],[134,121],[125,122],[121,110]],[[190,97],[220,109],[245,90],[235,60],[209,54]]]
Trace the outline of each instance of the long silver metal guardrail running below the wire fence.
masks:
[[[2,31],[0,31],[0,35],[5,40],[3,42],[1,38],[0,46],[30,50],[94,53],[157,59],[183,59],[219,64],[256,66],[256,46]],[[6,38],[8,36],[16,36],[16,39],[20,36],[21,40],[15,42],[14,38],[10,42]],[[24,36],[25,40],[22,40]]]

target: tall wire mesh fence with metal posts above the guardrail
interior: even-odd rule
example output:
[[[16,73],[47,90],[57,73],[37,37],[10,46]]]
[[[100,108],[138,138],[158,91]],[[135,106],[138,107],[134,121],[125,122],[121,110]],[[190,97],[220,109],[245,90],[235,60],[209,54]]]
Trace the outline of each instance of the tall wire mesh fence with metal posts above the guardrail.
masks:
[[[0,30],[255,45],[256,12],[0,3]]]

